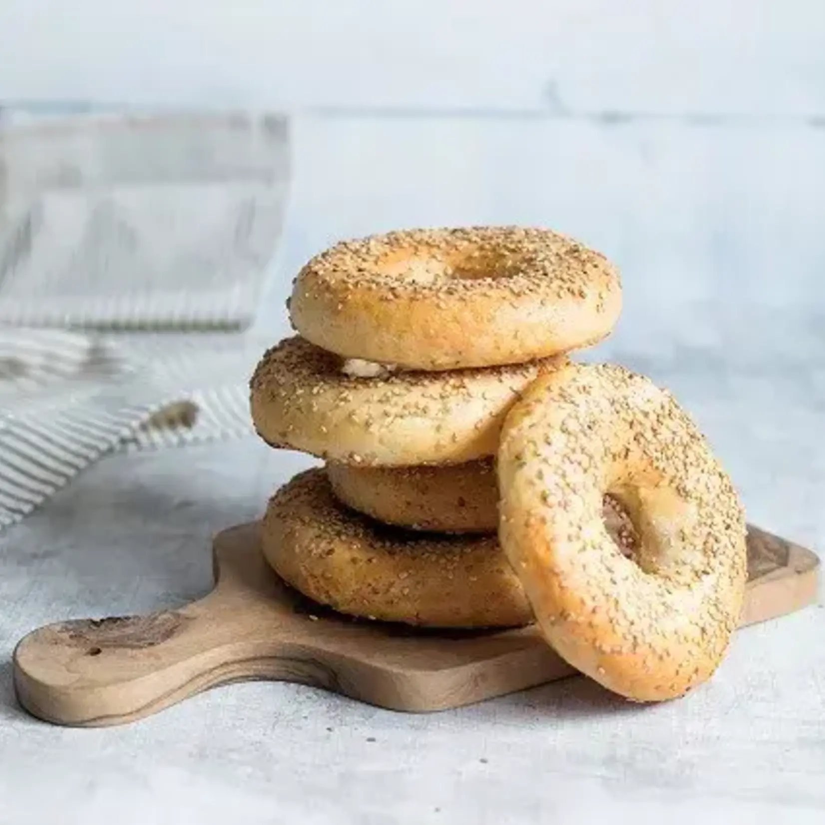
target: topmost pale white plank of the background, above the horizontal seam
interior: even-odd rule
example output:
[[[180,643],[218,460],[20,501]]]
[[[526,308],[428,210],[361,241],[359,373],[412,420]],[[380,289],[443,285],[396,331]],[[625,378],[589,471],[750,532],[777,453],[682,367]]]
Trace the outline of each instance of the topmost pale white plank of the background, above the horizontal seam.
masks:
[[[825,114],[818,0],[3,0],[7,96]]]

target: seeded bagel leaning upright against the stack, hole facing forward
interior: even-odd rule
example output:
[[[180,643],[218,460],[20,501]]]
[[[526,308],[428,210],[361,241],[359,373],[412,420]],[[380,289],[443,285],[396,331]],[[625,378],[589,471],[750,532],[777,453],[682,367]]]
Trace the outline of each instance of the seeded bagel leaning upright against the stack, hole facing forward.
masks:
[[[613,365],[544,376],[507,416],[497,473],[502,548],[564,659],[639,701],[713,674],[742,613],[744,512],[671,394]],[[633,559],[605,493],[639,531]]]

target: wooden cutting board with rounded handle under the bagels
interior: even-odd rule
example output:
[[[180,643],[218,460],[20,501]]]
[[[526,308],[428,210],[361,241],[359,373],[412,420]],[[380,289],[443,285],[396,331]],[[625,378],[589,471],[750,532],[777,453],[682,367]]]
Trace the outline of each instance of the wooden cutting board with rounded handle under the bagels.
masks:
[[[742,625],[817,596],[810,550],[749,528]],[[214,540],[216,586],[180,610],[62,622],[14,653],[17,697],[56,724],[140,719],[207,688],[298,681],[385,708],[455,708],[571,676],[535,628],[445,632],[353,620],[286,587],[266,565],[257,523]]]

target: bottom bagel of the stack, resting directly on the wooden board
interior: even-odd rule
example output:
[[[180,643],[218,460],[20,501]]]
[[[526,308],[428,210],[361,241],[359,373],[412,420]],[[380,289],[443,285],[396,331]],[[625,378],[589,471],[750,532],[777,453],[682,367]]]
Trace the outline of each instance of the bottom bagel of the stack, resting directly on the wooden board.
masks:
[[[321,469],[295,476],[271,498],[262,549],[285,582],[341,613],[443,628],[533,621],[496,536],[381,525],[339,504]]]

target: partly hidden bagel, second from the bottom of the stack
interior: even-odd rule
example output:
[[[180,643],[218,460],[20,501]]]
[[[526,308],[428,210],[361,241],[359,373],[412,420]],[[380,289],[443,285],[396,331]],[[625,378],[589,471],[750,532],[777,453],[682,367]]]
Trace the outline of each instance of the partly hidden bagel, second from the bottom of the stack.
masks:
[[[494,533],[498,529],[498,479],[492,459],[451,467],[353,467],[327,464],[332,492],[367,516],[439,533]],[[610,537],[632,552],[635,530],[614,497],[602,517]]]

